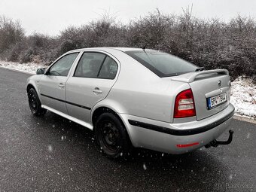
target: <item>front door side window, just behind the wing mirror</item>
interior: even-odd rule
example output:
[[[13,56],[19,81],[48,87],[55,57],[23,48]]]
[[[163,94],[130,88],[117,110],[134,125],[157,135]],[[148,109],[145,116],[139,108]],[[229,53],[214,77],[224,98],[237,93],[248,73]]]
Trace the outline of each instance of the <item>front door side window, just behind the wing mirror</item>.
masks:
[[[50,67],[47,75],[67,76],[69,74],[69,69],[71,68],[77,56],[78,53],[70,53],[66,56],[63,56],[58,61],[56,61],[53,66]]]

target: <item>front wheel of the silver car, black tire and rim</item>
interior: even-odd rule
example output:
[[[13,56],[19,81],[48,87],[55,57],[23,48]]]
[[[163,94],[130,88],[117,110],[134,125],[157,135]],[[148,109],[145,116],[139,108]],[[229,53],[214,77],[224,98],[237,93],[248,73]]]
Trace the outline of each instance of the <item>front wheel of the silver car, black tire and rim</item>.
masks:
[[[28,91],[29,98],[29,108],[32,114],[36,117],[42,117],[46,113],[46,109],[41,108],[41,102],[38,98],[38,93],[36,93],[34,88],[29,89]]]

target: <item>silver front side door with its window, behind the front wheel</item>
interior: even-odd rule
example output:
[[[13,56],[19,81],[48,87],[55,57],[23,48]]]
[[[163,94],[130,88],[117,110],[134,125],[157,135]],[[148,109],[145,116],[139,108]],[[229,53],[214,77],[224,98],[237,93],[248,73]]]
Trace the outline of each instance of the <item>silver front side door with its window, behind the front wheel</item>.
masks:
[[[38,81],[41,103],[68,114],[65,102],[66,81],[78,53],[69,53],[58,59]]]

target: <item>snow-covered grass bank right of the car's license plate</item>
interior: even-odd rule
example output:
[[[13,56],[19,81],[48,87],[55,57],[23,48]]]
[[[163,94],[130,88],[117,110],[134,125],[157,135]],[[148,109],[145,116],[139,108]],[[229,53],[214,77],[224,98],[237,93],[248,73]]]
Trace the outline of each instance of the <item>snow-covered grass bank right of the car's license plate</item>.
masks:
[[[239,77],[232,82],[230,102],[236,115],[256,119],[256,85],[250,78]]]

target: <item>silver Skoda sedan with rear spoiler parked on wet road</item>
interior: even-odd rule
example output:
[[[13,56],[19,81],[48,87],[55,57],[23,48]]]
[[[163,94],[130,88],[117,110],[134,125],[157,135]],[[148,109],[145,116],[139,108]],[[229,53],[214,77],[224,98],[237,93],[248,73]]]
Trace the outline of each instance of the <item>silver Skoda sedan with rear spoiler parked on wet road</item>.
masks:
[[[108,157],[133,147],[183,154],[216,141],[233,117],[230,76],[158,50],[72,50],[27,81],[35,116],[47,110],[93,130]]]

